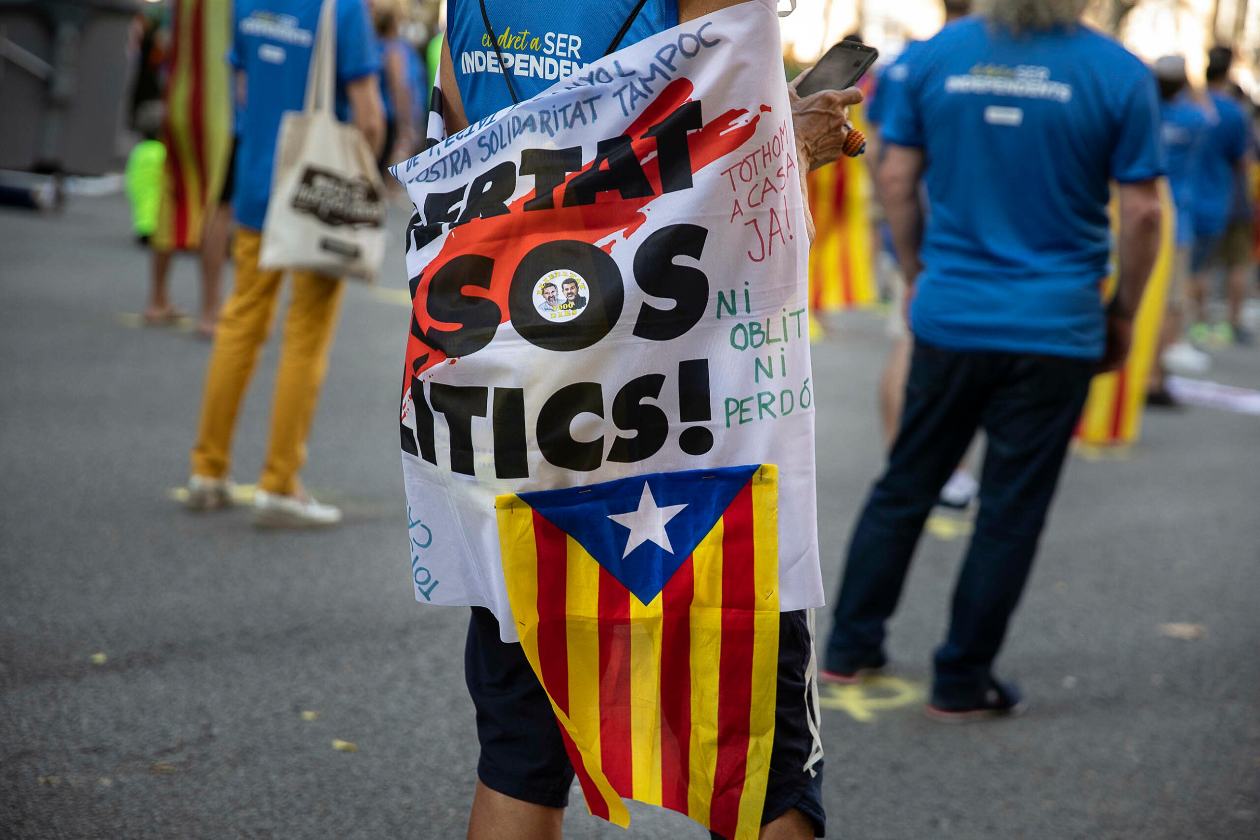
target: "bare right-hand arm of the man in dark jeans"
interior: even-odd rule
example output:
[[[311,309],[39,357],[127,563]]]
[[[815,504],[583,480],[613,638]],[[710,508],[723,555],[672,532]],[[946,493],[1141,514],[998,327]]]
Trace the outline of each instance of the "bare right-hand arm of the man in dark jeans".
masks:
[[[1106,349],[1100,363],[1104,372],[1119,369],[1129,356],[1133,319],[1138,315],[1150,270],[1155,267],[1164,214],[1155,179],[1120,184],[1119,193],[1120,237],[1116,249],[1120,276],[1106,312]]]

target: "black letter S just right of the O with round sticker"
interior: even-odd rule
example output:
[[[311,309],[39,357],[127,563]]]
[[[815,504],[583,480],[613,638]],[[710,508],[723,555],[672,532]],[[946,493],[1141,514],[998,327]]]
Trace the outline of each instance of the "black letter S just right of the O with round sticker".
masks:
[[[708,277],[699,268],[674,264],[674,257],[699,259],[708,230],[698,224],[670,224],[654,232],[634,256],[634,278],[655,297],[675,301],[663,310],[644,302],[634,334],[640,339],[668,341],[685,334],[704,316],[708,306]]]

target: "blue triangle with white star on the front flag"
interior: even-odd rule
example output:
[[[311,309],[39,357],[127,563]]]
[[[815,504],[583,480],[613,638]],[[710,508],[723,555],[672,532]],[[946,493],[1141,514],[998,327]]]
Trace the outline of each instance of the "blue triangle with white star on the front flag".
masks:
[[[518,497],[648,604],[759,468],[655,472]]]

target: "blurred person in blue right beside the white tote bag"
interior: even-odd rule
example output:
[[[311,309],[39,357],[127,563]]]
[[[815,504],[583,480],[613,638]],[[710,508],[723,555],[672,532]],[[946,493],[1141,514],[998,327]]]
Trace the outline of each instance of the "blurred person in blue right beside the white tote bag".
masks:
[[[428,108],[427,74],[415,45],[399,35],[407,18],[404,0],[372,0],[381,52],[381,98],[384,103],[386,144],[382,170],[416,154],[418,115]],[[391,183],[393,179],[387,179]]]

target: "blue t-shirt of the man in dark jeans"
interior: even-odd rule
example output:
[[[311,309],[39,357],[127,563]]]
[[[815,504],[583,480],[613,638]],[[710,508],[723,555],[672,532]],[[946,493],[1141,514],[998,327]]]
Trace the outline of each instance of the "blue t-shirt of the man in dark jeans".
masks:
[[[1109,181],[1164,173],[1154,78],[1087,28],[968,16],[916,48],[883,139],[922,149],[911,329],[954,350],[1102,354]]]

